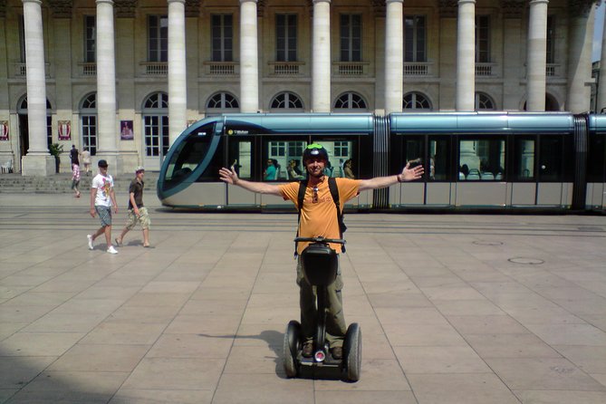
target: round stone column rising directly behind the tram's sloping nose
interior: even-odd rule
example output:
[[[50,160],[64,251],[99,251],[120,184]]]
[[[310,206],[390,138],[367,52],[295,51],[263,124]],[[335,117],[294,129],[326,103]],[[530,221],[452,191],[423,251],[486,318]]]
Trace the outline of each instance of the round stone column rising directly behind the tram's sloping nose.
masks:
[[[188,127],[185,0],[168,0],[168,133],[170,144]]]

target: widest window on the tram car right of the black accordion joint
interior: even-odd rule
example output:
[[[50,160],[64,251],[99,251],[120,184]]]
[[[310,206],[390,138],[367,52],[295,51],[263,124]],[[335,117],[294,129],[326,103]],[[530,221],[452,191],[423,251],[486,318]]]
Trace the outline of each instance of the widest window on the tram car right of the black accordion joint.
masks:
[[[460,180],[502,180],[505,177],[505,140],[460,140],[458,153]]]

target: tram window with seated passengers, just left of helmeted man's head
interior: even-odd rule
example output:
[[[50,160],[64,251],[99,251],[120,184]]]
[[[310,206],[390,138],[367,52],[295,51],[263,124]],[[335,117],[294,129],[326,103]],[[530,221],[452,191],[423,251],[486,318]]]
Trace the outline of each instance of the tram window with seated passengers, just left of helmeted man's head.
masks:
[[[270,140],[265,143],[264,181],[303,179],[303,149],[305,140]]]

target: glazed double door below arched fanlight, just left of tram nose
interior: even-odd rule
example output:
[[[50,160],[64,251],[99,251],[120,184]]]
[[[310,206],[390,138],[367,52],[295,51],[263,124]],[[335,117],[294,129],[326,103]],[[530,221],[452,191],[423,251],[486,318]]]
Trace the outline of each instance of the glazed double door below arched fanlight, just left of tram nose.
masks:
[[[152,171],[158,171],[170,146],[168,116],[145,115],[143,117],[143,133],[145,138],[144,167]]]

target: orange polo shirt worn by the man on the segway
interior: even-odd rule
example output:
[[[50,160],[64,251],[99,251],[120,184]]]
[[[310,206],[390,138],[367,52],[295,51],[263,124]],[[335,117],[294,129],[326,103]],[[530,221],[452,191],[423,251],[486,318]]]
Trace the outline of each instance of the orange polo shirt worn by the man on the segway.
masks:
[[[345,202],[352,197],[356,197],[360,191],[360,179],[335,178],[337,188],[339,188],[339,203],[341,210]],[[289,182],[280,186],[280,192],[284,200],[293,201],[298,205],[299,182]],[[318,184],[318,201],[313,203],[313,187],[305,189],[303,197],[303,209],[301,210],[301,223],[299,224],[300,237],[318,237],[339,238],[339,220],[337,219],[337,209],[332,201],[331,190],[328,188],[328,179],[322,177],[322,182]],[[309,243],[299,243],[297,253],[301,254]],[[331,248],[337,253],[341,253],[341,245],[331,243]]]

